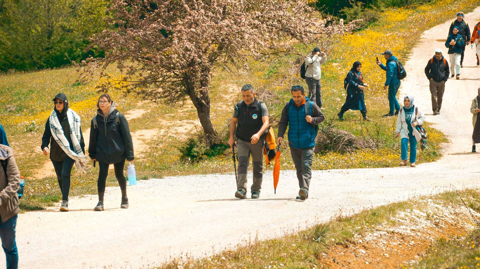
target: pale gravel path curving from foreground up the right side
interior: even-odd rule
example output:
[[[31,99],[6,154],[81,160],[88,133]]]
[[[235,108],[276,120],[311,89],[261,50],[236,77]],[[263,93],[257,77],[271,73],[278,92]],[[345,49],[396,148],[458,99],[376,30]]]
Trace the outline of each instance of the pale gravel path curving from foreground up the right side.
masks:
[[[466,19],[474,25],[473,19],[479,17],[477,8]],[[427,121],[448,134],[451,143],[441,160],[417,168],[313,171],[311,198],[305,202],[294,199],[298,182],[291,170],[281,171],[276,195],[272,173],[266,172],[259,200],[232,199],[235,179],[225,174],[139,181],[128,188],[131,205],[127,210],[120,209],[118,187],[107,188],[105,212],[92,211],[96,196],[86,196],[71,198],[69,213],[55,207],[21,214],[17,223],[20,268],[152,268],[185,253],[198,257],[255,236],[282,235],[327,221],[339,211],[352,213],[451,186],[477,186],[479,155],[469,153],[469,108],[480,73],[474,51],[466,50],[462,79],[447,82],[439,116],[432,115],[423,73],[436,47],[446,51],[436,40],[446,37],[452,20],[424,33],[405,65],[409,76],[401,90],[401,96],[413,94]]]

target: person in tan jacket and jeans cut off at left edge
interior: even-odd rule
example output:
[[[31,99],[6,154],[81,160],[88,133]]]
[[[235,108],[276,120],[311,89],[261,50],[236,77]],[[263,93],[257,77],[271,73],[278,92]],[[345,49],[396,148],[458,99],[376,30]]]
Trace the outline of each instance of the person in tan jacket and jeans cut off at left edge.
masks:
[[[0,238],[1,246],[7,259],[7,269],[18,269],[18,249],[15,242],[17,226],[18,188],[20,187],[20,171],[18,170],[13,150],[9,146],[0,145]]]

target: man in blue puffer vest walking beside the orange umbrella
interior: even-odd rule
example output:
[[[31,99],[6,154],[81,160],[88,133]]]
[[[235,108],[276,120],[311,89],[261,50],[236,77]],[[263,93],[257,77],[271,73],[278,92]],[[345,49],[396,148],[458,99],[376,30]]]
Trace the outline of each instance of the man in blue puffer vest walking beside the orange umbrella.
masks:
[[[288,126],[288,145],[292,155],[297,179],[299,180],[299,196],[297,199],[308,199],[310,181],[312,179],[313,147],[317,136],[318,124],[325,119],[320,108],[308,97],[305,90],[297,85],[291,88],[292,98],[282,109],[278,123],[278,139],[280,144]]]

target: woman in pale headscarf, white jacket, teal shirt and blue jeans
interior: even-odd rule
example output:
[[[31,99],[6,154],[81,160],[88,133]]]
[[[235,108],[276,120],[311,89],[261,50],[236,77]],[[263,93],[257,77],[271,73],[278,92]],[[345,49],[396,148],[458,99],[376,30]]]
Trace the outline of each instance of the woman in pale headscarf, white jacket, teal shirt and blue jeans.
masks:
[[[421,136],[416,126],[425,121],[425,116],[420,108],[413,105],[413,96],[407,95],[403,98],[403,107],[396,118],[395,138],[400,136],[401,141],[401,162],[400,166],[407,165],[408,142],[410,142],[410,167],[415,167],[417,159],[417,142]]]

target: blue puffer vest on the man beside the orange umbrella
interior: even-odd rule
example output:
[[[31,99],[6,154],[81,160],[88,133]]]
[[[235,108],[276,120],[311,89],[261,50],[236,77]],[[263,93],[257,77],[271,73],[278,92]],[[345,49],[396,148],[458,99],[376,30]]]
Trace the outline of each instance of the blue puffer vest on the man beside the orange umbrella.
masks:
[[[305,97],[305,104],[309,101]],[[305,104],[297,107],[292,98],[288,109],[288,144],[297,149],[315,146],[315,129],[305,120]],[[310,110],[307,115],[312,115],[312,105],[308,107]]]

